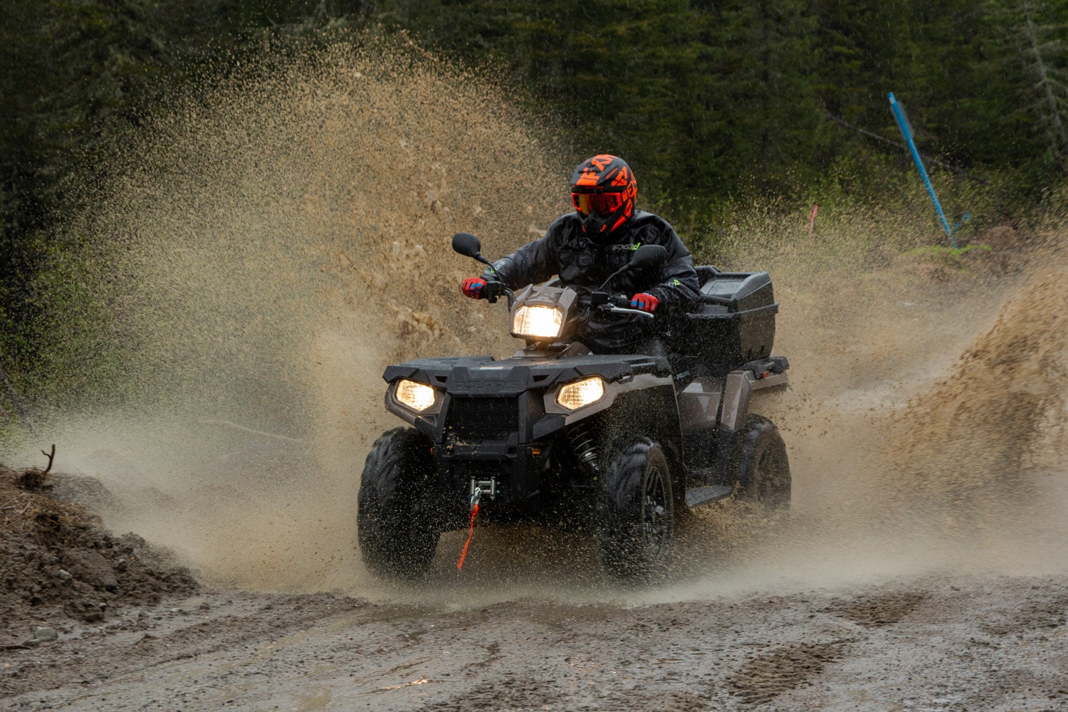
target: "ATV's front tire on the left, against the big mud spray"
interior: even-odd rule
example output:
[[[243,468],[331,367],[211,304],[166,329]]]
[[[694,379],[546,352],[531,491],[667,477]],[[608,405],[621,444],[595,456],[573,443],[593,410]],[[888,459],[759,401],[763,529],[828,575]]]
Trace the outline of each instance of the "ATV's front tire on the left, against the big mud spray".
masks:
[[[376,575],[423,575],[441,536],[429,502],[434,476],[430,441],[395,428],[375,441],[360,481],[356,521],[363,561]]]

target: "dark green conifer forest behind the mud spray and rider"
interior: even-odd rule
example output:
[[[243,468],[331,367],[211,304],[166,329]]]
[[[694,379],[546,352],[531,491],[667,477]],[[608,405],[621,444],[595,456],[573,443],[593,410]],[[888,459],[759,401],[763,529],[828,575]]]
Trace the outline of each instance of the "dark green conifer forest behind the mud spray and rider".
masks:
[[[116,137],[204,67],[345,29],[404,33],[496,73],[565,128],[576,159],[626,156],[643,203],[704,225],[687,240],[706,253],[731,205],[811,209],[915,188],[907,155],[876,138],[900,141],[888,91],[922,152],[987,187],[979,221],[1049,209],[1068,174],[1068,2],[10,0],[0,367],[17,379],[41,346],[69,176],[106,165]]]

